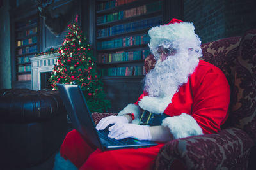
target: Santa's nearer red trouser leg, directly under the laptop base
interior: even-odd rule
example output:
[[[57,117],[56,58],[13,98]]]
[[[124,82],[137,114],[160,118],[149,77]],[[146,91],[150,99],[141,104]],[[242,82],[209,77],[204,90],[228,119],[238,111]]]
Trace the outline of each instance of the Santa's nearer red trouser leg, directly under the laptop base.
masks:
[[[149,148],[120,149],[102,152],[97,149],[80,169],[152,169],[163,143]]]

